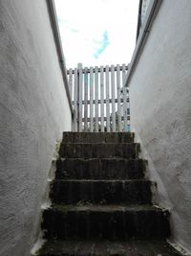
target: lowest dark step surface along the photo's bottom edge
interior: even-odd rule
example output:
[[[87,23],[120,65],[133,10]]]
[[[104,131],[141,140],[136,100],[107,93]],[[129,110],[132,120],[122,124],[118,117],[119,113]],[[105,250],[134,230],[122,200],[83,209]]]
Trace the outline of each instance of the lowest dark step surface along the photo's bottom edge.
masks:
[[[47,242],[38,256],[180,256],[164,241]]]

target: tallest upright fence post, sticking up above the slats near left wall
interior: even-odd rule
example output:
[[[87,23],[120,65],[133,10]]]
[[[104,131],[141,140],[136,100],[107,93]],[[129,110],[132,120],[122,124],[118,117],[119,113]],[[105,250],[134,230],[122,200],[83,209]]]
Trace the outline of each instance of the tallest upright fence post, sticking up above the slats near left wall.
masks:
[[[78,63],[78,91],[79,91],[79,96],[78,96],[78,131],[82,131],[82,64]]]

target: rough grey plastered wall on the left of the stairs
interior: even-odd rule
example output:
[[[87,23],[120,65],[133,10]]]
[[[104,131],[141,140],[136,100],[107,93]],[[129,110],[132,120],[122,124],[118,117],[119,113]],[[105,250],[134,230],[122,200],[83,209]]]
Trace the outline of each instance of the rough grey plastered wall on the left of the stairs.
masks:
[[[28,256],[71,111],[45,0],[0,0],[0,255]]]

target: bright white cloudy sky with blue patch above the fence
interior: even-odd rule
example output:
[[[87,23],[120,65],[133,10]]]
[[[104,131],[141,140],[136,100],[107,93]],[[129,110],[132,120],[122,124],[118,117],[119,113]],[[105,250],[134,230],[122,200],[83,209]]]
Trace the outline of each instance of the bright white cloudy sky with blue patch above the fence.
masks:
[[[55,0],[67,68],[128,64],[139,0]]]

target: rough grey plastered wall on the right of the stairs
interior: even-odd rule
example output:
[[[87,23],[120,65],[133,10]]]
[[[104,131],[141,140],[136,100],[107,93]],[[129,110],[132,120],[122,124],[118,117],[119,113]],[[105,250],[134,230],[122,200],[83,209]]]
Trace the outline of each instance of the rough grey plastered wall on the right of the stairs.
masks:
[[[162,2],[130,81],[131,125],[147,154],[172,241],[191,250],[191,2]],[[191,254],[189,254],[191,255]]]

